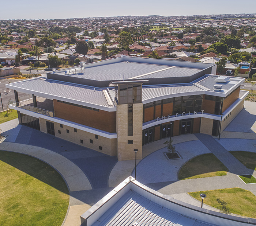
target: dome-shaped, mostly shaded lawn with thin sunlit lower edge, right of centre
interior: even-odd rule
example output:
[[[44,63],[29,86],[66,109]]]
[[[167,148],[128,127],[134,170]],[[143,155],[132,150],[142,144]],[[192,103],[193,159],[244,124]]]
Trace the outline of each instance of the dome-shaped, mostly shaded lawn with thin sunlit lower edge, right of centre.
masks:
[[[185,163],[178,175],[179,180],[227,175],[228,169],[214,156],[203,154]]]

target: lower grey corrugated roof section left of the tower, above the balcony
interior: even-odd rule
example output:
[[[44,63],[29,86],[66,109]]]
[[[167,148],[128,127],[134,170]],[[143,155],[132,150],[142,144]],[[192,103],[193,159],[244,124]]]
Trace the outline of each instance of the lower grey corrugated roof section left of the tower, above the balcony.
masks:
[[[90,104],[109,107],[102,89],[92,89],[83,85],[76,85],[66,82],[60,82],[52,79],[29,79],[22,82],[8,84],[13,89],[15,87],[31,90],[39,93],[67,98],[69,100],[82,101]]]

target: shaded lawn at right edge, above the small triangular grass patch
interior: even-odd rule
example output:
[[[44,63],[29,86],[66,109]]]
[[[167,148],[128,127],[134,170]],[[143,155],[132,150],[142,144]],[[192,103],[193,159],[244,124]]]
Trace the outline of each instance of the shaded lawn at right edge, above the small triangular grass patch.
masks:
[[[256,170],[256,153],[248,151],[231,151],[230,153],[248,169]]]

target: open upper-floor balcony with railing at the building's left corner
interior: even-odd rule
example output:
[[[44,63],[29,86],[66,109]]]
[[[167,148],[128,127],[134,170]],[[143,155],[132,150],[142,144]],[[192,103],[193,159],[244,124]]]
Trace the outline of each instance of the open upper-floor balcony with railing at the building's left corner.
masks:
[[[9,106],[14,106],[16,108],[29,110],[30,112],[54,117],[53,101],[42,97],[37,98],[37,107],[34,106],[33,99],[20,102],[9,101]]]

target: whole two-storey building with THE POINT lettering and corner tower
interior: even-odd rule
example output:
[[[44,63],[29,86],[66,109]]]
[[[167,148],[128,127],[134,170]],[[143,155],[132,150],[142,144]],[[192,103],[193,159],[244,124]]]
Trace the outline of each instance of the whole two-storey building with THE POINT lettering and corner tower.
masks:
[[[218,136],[244,107],[244,78],[216,75],[216,64],[119,57],[7,84],[19,123],[106,153],[188,133]],[[19,94],[29,97],[20,100]],[[171,124],[172,123],[172,124]]]

